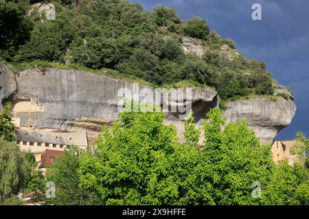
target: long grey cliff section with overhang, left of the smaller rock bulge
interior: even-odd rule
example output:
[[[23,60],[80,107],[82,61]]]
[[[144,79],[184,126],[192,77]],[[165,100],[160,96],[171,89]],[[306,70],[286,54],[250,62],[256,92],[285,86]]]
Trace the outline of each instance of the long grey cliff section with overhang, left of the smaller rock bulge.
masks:
[[[181,118],[190,112],[180,108],[185,110],[187,105],[192,105],[196,120],[200,120],[209,108],[218,105],[217,92],[210,88],[192,88],[192,96],[185,95],[179,101],[170,91],[161,93],[150,86],[80,70],[30,69],[14,75],[4,65],[1,69],[3,90],[1,88],[0,99],[3,104],[12,102],[15,125],[59,131],[86,130],[91,142],[100,133],[102,125],[111,125],[118,119],[118,106],[127,98],[124,96],[127,92],[131,98],[139,96],[141,103],[168,101],[166,121],[179,129],[183,127],[179,125],[183,123]],[[156,95],[159,98],[156,99]],[[179,97],[177,92],[176,96]],[[172,112],[171,107],[176,110]]]

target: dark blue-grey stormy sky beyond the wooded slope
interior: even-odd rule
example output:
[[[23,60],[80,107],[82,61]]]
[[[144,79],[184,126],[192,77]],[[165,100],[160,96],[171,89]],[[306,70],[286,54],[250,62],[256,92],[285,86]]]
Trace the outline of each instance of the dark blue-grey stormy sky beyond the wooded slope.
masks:
[[[130,0],[144,10],[157,5],[176,9],[181,18],[201,16],[222,38],[231,38],[245,57],[265,60],[273,77],[295,94],[293,122],[277,136],[309,136],[309,1],[308,0]],[[253,3],[262,5],[262,21],[253,21]]]

